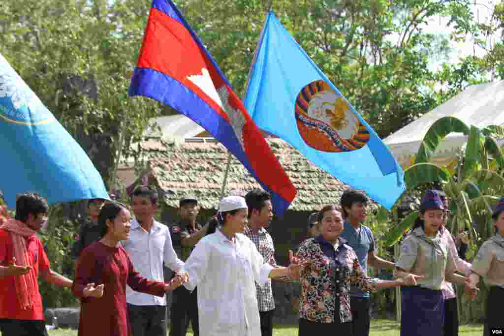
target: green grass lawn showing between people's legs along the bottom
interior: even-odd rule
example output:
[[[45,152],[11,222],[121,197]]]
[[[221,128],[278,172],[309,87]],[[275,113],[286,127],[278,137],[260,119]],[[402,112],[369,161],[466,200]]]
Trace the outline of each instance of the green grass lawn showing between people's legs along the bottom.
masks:
[[[188,332],[188,335],[193,335]],[[297,325],[276,325],[273,330],[275,336],[297,336]],[[465,324],[459,329],[461,336],[481,336],[483,334],[482,324]],[[370,336],[398,336],[399,323],[393,320],[375,319],[371,320]],[[57,329],[49,330],[49,336],[77,336],[77,330]],[[345,335],[342,335],[345,336]]]

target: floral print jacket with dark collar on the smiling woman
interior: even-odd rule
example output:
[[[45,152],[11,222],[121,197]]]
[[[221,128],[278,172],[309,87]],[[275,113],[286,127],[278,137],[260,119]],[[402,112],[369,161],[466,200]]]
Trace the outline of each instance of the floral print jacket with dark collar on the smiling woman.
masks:
[[[297,257],[308,261],[301,271],[299,317],[313,322],[349,322],[350,284],[376,291],[375,282],[362,272],[354,250],[339,238],[334,246],[321,236],[303,241]]]

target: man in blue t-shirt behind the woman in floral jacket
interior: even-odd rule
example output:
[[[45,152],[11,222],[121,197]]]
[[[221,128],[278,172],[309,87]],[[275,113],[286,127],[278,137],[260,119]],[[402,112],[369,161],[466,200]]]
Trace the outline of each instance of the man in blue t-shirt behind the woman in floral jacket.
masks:
[[[371,229],[362,223],[366,220],[369,199],[360,190],[347,189],[341,196],[341,209],[344,229],[340,237],[347,240],[362,266],[364,274],[367,274],[367,265],[374,268],[394,269],[394,263],[378,257],[375,253],[374,237]],[[364,292],[356,287],[350,290],[350,308],[352,310],[352,334],[353,336],[368,336],[371,322],[371,302],[369,292]]]

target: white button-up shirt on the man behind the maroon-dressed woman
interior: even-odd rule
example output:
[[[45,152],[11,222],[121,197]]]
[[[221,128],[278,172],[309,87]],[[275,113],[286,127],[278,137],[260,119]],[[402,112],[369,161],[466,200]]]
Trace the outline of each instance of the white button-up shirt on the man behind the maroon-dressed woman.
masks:
[[[122,241],[121,245],[130,255],[137,272],[149,280],[164,281],[163,261],[173,272],[178,272],[184,265],[173,249],[170,230],[156,221],[147,232],[133,220],[130,238]],[[136,306],[166,306],[166,295],[161,298],[135,292],[127,286],[126,302]]]

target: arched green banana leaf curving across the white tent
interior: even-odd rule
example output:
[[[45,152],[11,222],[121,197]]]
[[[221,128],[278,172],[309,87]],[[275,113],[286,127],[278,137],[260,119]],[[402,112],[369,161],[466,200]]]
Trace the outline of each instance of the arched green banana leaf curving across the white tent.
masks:
[[[429,162],[439,143],[452,132],[468,135],[469,127],[462,120],[455,117],[443,117],[436,120],[425,133],[416,155],[415,164]]]

